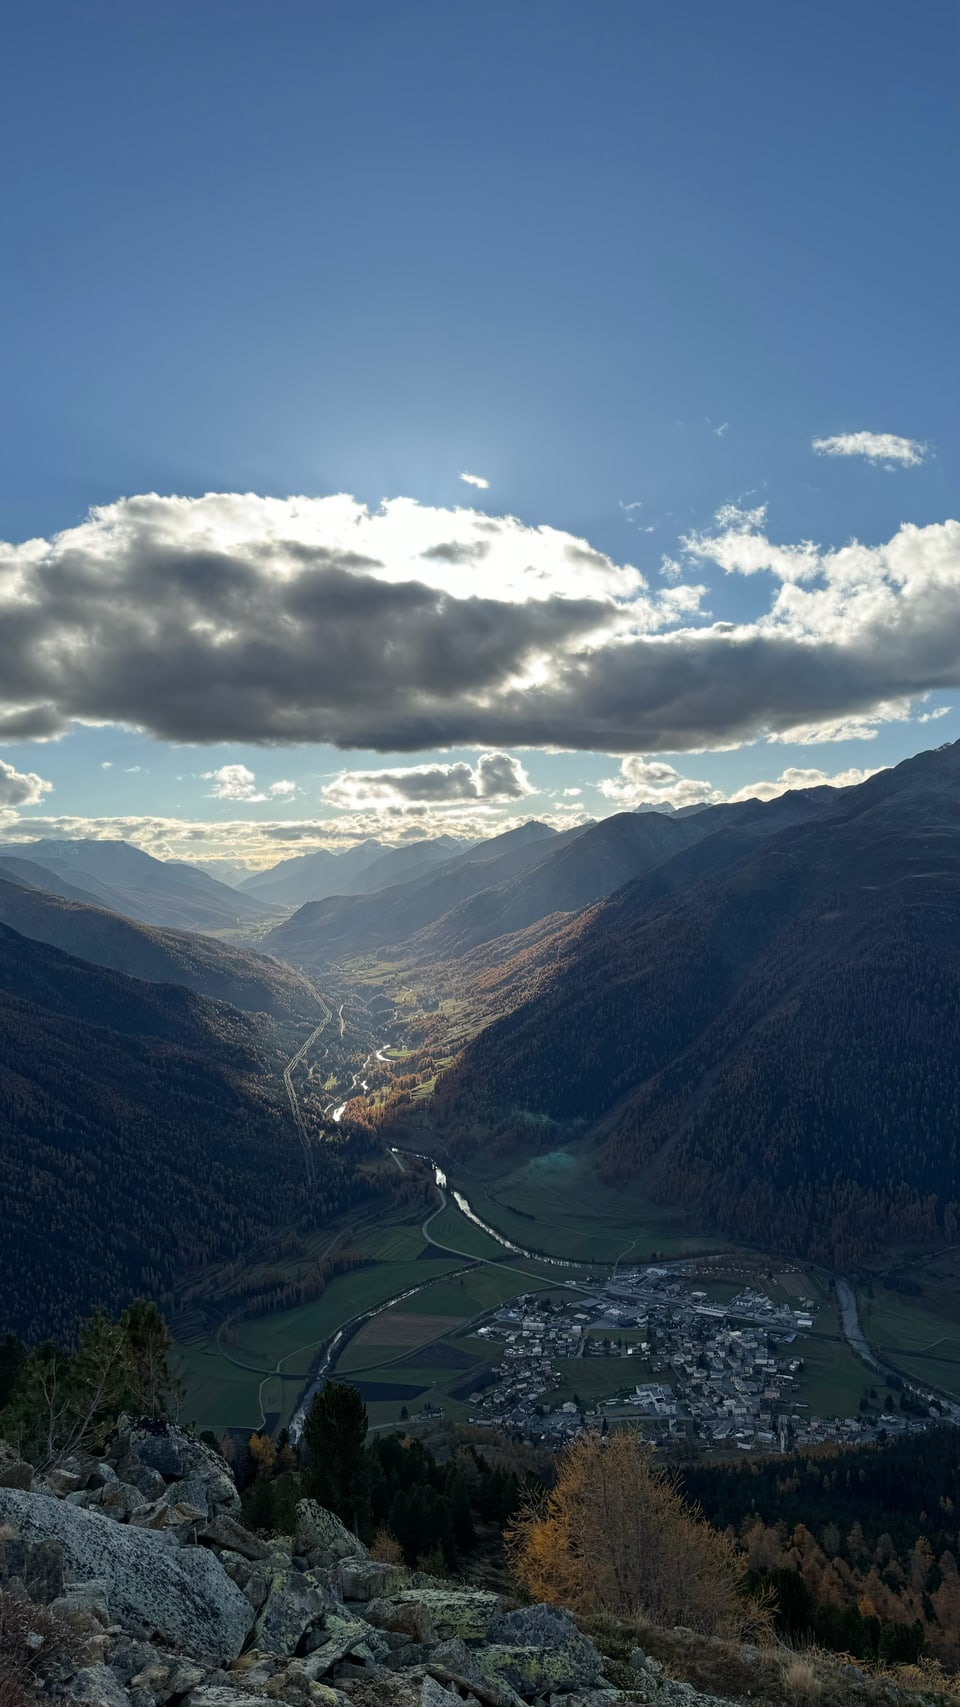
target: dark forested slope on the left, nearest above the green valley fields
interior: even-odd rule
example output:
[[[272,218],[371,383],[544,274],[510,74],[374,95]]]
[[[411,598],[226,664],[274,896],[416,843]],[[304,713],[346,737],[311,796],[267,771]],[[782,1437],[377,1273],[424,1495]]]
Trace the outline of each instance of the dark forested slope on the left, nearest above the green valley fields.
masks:
[[[306,1205],[273,1033],[0,925],[5,1326],[79,1314],[236,1256]],[[337,1157],[314,1214],[338,1202]]]

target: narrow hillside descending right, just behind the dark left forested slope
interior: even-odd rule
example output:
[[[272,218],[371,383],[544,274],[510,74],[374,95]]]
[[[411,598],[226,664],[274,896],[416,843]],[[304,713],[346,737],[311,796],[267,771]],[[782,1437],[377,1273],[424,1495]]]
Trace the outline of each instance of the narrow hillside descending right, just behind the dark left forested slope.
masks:
[[[22,865],[27,865],[24,860]],[[79,959],[152,983],[181,983],[244,1012],[316,1016],[313,985],[266,954],[249,954],[186,930],[161,930],[99,906],[10,883],[0,862],[0,923]],[[41,867],[31,867],[43,877]],[[53,879],[56,881],[56,879]]]

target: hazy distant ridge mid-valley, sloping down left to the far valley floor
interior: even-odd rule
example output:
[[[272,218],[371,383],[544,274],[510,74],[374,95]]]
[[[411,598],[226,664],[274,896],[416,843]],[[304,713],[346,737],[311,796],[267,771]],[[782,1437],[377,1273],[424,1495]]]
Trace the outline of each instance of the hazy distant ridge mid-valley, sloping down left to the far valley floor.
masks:
[[[434,923],[458,901],[540,864],[547,848],[553,850],[581,833],[567,830],[557,835],[548,824],[521,824],[410,883],[398,883],[374,894],[337,894],[325,901],[307,901],[275,925],[263,946],[292,964],[306,966],[391,949],[424,925]]]

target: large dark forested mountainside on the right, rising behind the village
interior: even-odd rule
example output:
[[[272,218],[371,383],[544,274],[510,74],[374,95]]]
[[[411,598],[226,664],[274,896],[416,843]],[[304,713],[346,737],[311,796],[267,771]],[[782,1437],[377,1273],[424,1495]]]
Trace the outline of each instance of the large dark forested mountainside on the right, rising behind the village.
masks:
[[[442,1118],[601,1123],[608,1180],[832,1261],[953,1234],[958,830],[953,746],[760,845],[700,842],[567,927]]]

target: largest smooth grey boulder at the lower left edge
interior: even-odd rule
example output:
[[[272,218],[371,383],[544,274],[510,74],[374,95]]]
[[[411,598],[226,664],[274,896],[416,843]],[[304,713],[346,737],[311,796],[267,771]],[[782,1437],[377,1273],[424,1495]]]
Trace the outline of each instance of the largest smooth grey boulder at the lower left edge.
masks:
[[[164,1535],[15,1489],[0,1489],[0,1524],[10,1524],[27,1543],[58,1543],[72,1576],[104,1584],[111,1613],[123,1627],[155,1630],[190,1654],[239,1654],[253,1608],[207,1548],[178,1548]]]

